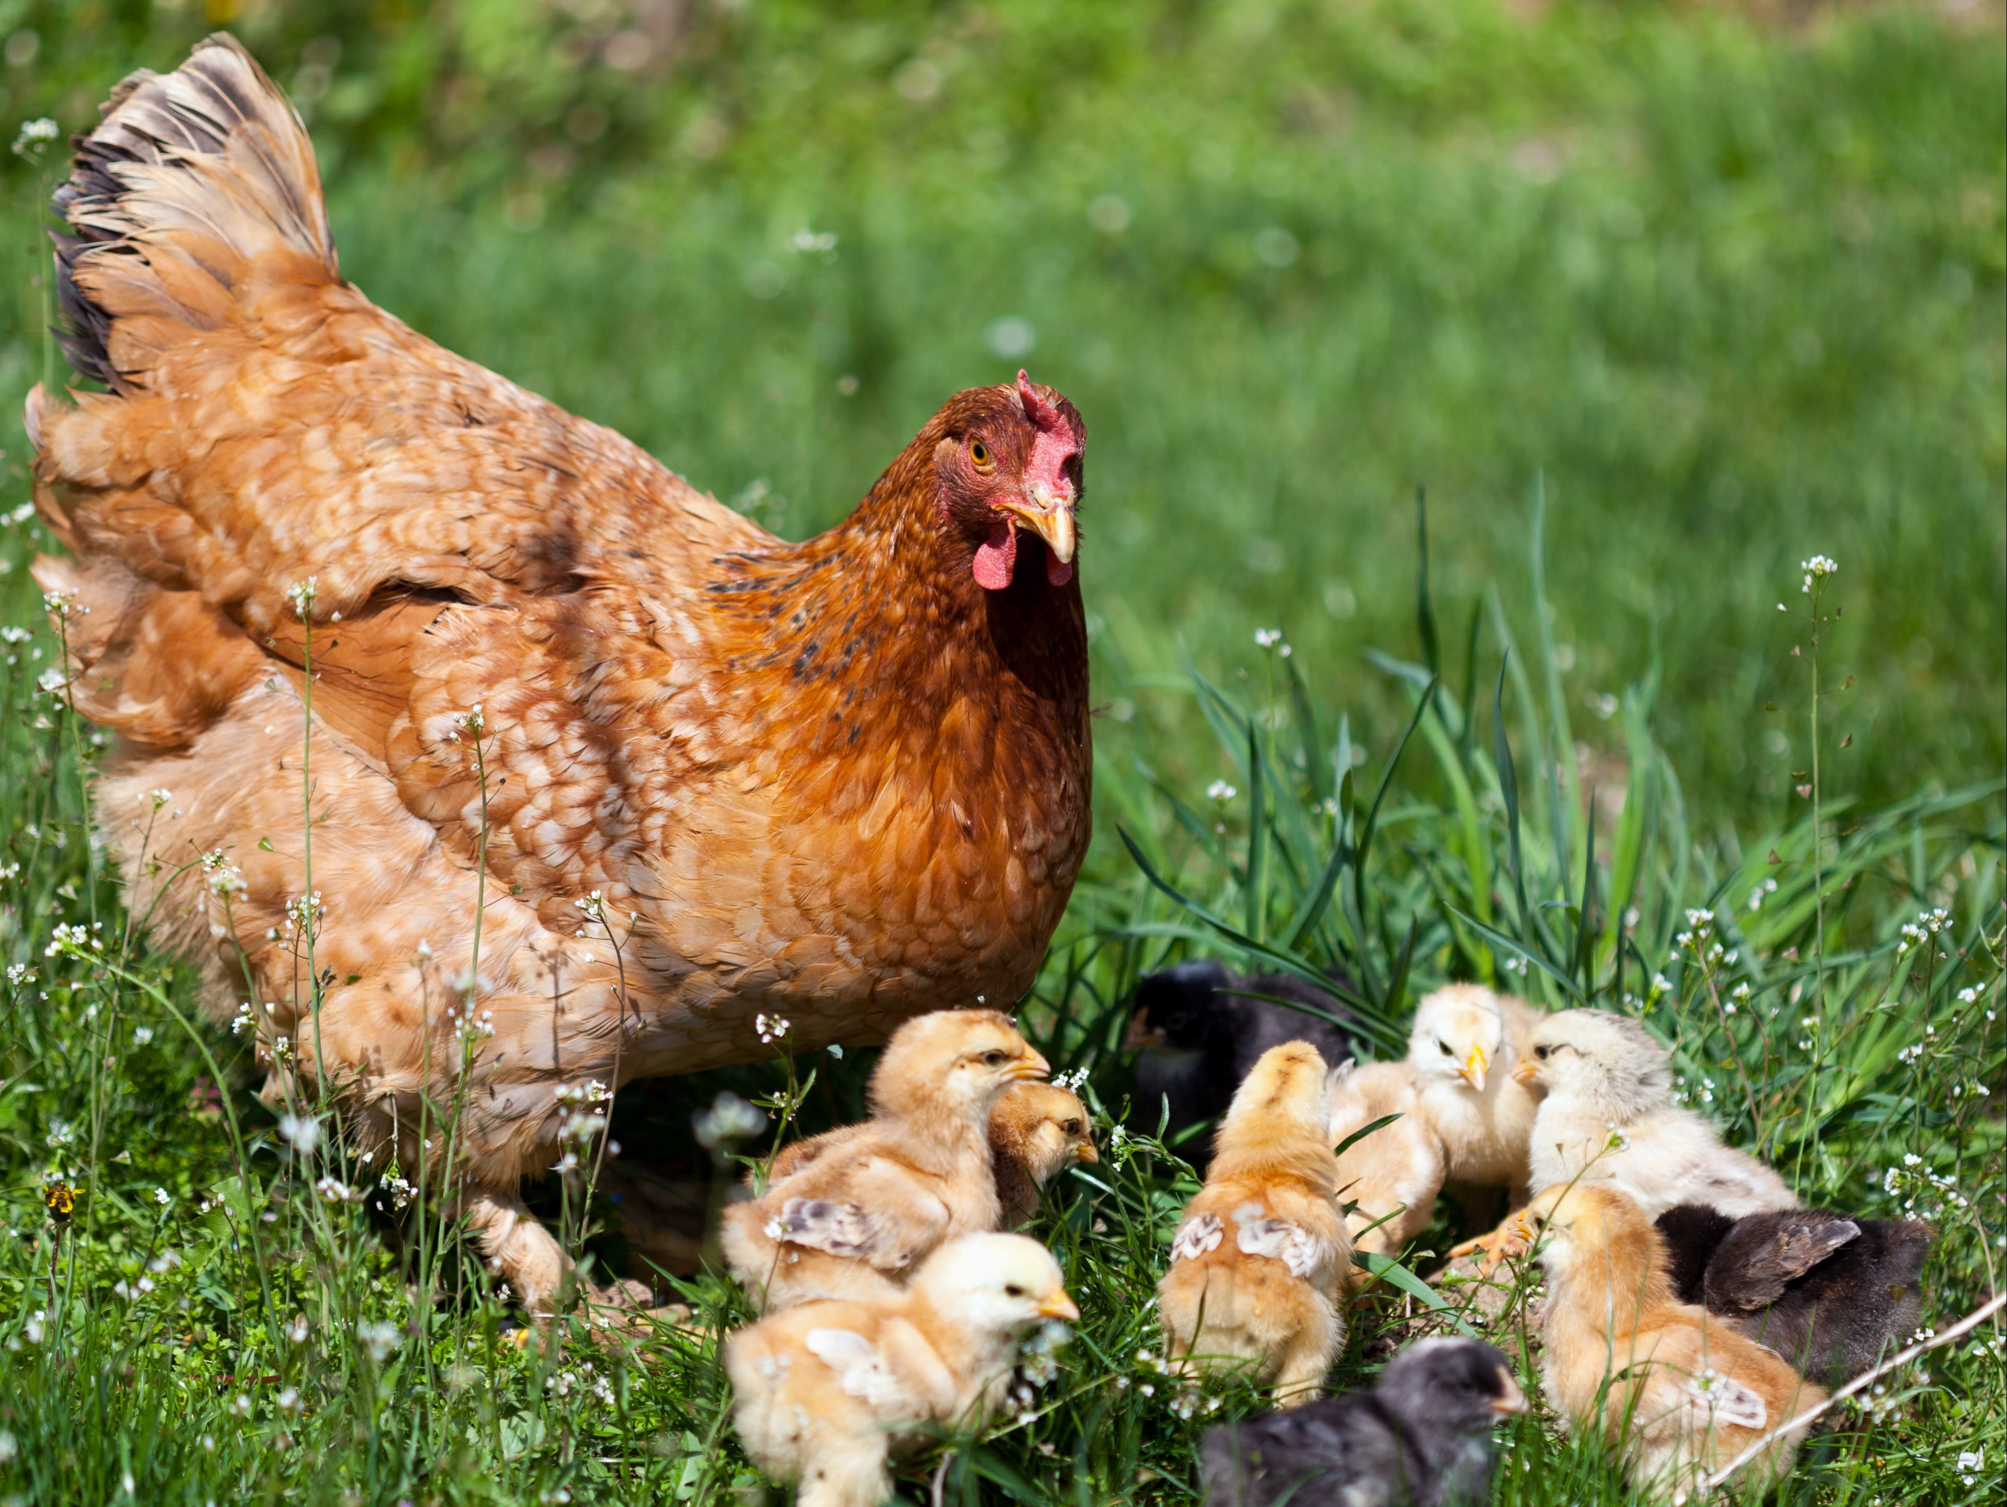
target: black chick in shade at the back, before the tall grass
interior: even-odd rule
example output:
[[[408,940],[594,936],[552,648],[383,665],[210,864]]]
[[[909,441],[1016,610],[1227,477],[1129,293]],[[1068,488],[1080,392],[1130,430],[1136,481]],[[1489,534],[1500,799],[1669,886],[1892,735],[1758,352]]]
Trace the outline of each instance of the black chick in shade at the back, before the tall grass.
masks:
[[[1248,999],[1246,993],[1347,1015],[1333,995],[1291,973],[1240,979],[1210,957],[1152,973],[1136,985],[1128,1039],[1122,1043],[1142,1047],[1136,1058],[1136,1122],[1142,1128],[1154,1132],[1168,1106],[1164,1140],[1176,1144],[1178,1132],[1226,1114],[1254,1060],[1284,1041],[1309,1041],[1329,1064],[1367,1056],[1363,1031],[1341,1029],[1268,999]],[[1178,1154],[1200,1172],[1212,1160],[1202,1138],[1184,1142]]]

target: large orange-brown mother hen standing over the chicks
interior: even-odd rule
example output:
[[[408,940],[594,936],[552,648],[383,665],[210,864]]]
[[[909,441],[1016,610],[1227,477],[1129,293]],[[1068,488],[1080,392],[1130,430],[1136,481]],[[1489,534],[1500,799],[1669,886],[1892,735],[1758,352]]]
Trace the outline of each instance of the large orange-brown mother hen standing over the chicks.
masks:
[[[514,1188],[566,1090],[1030,987],[1088,843],[1066,397],[957,393],[787,544],[345,283],[229,36],[76,148],[66,343],[110,391],[28,397],[76,556],[36,578],[120,734],[132,909],[217,1017],[251,993],[273,1102],[409,1166],[464,1090],[462,1206],[538,1304]]]

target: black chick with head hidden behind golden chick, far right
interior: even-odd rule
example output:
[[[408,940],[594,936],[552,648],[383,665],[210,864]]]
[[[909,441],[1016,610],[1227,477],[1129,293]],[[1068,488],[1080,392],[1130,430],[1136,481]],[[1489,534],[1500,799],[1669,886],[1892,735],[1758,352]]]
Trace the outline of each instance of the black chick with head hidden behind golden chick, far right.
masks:
[[[1678,1204],[1658,1232],[1680,1302],[1720,1314],[1822,1387],[1858,1377],[1917,1326],[1929,1224],[1824,1208],[1732,1220]]]

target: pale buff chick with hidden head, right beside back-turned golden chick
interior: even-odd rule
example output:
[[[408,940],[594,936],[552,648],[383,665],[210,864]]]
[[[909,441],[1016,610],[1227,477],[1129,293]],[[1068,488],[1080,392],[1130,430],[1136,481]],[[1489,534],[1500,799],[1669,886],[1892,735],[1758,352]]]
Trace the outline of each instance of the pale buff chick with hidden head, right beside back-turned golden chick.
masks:
[[[1443,1188],[1443,1140],[1421,1114],[1415,1070],[1405,1062],[1341,1064],[1331,1074],[1331,1144],[1385,1116],[1399,1116],[1339,1152],[1339,1204],[1355,1250],[1399,1256],[1419,1236]],[[1365,1280],[1347,1264],[1345,1280]]]

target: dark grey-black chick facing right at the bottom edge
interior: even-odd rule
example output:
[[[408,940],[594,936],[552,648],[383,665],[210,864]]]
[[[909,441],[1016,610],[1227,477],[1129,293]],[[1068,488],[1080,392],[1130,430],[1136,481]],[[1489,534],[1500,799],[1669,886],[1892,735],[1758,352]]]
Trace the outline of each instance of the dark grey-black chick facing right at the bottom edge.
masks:
[[[1485,1501],[1491,1425],[1511,1413],[1525,1413],[1525,1393],[1497,1348],[1417,1340],[1387,1363],[1371,1393],[1208,1429],[1206,1507]]]

